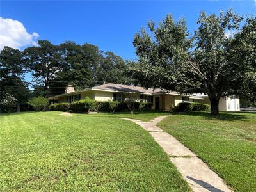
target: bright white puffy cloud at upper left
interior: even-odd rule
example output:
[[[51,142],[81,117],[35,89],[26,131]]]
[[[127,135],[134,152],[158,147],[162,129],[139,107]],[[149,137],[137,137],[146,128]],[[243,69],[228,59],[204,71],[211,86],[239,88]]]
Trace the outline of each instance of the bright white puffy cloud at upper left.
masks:
[[[20,49],[28,45],[37,45],[38,33],[29,34],[22,22],[0,17],[0,51],[4,46]]]

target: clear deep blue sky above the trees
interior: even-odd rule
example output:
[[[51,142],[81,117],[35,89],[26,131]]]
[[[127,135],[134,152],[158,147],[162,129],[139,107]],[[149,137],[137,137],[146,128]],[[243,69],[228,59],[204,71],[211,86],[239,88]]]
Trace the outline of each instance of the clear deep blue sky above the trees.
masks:
[[[229,8],[252,15],[256,1],[0,1],[0,16],[18,20],[29,34],[39,35],[37,40],[88,42],[132,60],[134,34],[148,20],[158,22],[168,13],[175,20],[185,17],[193,33],[201,10],[210,14]]]

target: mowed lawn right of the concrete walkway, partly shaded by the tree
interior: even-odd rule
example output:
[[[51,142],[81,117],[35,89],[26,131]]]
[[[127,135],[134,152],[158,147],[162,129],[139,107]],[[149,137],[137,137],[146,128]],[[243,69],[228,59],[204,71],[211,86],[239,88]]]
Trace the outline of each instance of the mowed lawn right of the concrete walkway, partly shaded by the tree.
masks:
[[[211,166],[235,191],[256,191],[256,113],[173,115],[159,127]]]

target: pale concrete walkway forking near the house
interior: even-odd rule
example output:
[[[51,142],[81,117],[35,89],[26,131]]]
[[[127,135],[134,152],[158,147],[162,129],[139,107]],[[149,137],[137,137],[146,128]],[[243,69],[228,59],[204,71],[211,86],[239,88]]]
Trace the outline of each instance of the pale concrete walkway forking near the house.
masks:
[[[156,126],[158,122],[166,117],[167,116],[159,116],[150,122],[142,122],[129,118],[123,119],[135,122],[149,132],[154,140],[156,140],[170,156],[170,161],[175,164],[177,170],[179,170],[184,179],[187,180],[193,191],[232,191],[223,180],[213,172],[207,164],[196,157],[196,154],[191,152],[189,148],[185,147],[176,138]]]

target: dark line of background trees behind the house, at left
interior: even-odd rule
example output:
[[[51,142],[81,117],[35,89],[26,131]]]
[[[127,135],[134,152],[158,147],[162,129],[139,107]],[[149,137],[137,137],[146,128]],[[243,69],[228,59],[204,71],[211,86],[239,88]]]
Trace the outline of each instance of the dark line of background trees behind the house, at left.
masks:
[[[54,45],[39,40],[38,46],[24,51],[4,47],[0,52],[1,95],[8,92],[26,103],[29,97],[49,97],[65,92],[68,84],[76,90],[103,83],[129,84],[127,63],[113,52],[100,51],[96,45],[67,41]],[[24,76],[32,77],[28,89]]]

